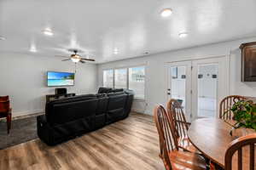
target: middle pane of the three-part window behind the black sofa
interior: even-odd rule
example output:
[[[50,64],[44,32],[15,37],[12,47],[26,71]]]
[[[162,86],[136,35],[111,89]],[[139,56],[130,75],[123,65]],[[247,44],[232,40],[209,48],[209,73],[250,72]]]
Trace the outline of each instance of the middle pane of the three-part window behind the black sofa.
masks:
[[[114,88],[127,88],[127,69],[114,70]]]

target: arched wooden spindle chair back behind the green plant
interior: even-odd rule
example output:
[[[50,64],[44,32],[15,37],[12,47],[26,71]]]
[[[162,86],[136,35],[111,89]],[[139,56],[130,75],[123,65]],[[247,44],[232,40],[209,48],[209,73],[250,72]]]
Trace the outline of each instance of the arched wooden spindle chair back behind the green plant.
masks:
[[[219,118],[224,120],[231,120],[233,118],[233,112],[230,111],[231,107],[239,100],[247,99],[240,95],[230,95],[221,100],[219,105]]]

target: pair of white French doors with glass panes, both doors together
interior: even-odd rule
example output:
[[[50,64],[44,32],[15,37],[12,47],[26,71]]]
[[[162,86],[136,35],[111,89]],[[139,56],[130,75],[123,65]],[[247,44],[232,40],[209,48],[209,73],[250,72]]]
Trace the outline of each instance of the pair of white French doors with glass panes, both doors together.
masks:
[[[172,62],[168,65],[167,98],[183,102],[189,122],[218,117],[218,103],[227,94],[225,57]]]

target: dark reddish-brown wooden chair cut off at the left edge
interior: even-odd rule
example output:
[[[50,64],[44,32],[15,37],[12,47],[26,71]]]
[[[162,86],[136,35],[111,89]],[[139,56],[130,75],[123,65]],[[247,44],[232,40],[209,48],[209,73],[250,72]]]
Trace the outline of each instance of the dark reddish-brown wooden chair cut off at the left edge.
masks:
[[[9,103],[9,96],[0,96],[0,118],[6,117],[7,133],[9,133],[12,121],[12,110]]]

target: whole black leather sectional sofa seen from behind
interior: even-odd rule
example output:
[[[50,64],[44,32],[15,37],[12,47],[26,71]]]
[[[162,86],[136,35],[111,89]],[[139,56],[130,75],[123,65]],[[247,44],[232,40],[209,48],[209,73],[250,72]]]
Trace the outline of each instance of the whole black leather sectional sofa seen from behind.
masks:
[[[59,144],[129,116],[131,90],[99,88],[98,94],[79,95],[46,103],[38,116],[38,137],[49,145]]]

